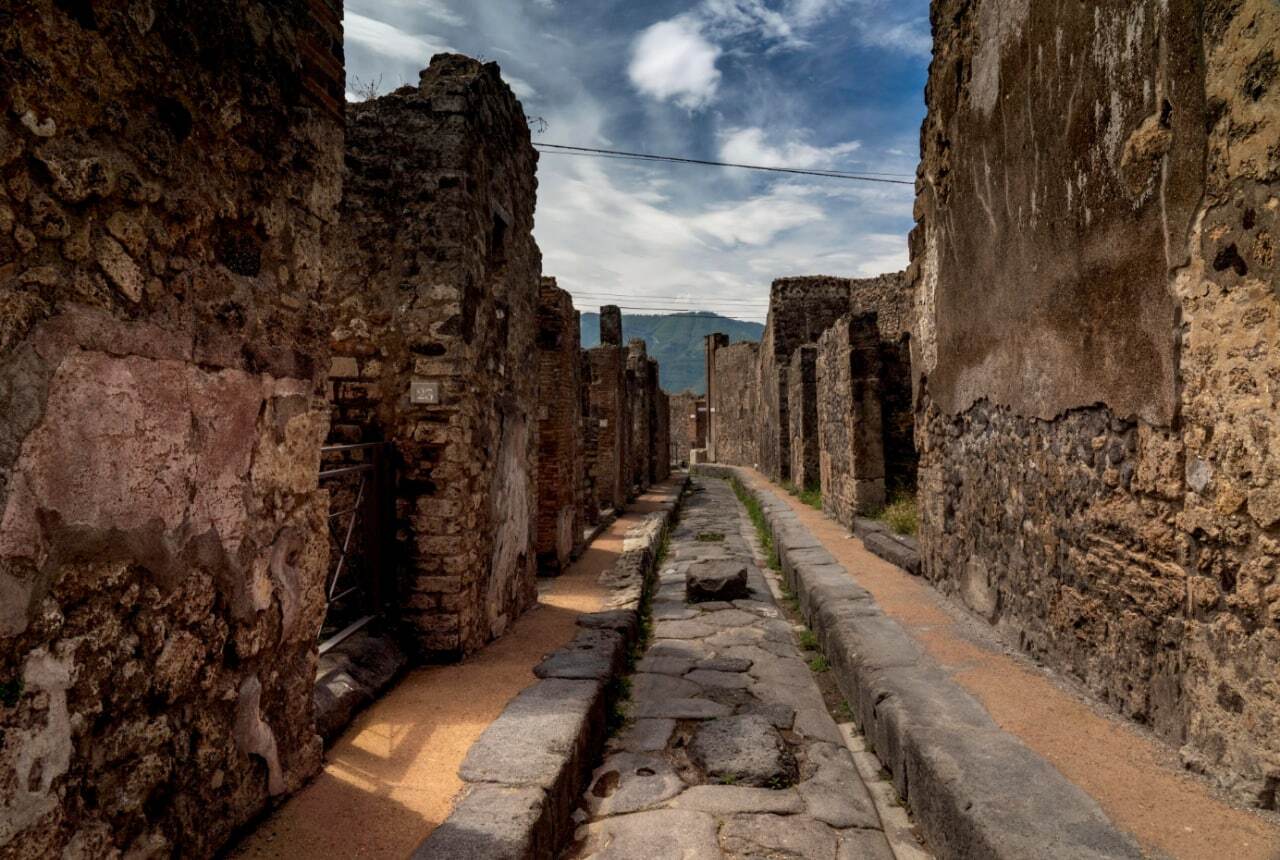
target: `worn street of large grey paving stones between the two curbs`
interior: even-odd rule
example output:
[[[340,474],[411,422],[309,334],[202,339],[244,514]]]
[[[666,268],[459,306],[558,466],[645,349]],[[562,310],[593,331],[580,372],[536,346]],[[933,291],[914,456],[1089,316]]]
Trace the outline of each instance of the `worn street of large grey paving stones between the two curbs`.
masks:
[[[886,837],[754,544],[730,485],[698,480],[659,569],[627,722],[567,857],[927,856],[905,819]]]

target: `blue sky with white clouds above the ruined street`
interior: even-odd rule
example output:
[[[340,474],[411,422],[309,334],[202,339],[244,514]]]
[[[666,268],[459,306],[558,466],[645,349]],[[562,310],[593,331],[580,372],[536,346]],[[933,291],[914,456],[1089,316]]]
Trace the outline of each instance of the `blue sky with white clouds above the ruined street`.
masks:
[[[347,0],[348,97],[495,60],[535,141],[914,175],[927,0]],[[906,265],[910,186],[544,154],[535,235],[580,310],[763,320],[783,275]],[[636,311],[643,312],[643,311]]]

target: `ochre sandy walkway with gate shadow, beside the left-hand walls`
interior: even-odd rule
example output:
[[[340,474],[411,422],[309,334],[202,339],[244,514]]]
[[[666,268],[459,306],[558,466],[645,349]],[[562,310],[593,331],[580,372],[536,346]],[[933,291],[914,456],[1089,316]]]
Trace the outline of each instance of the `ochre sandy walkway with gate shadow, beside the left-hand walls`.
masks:
[[[604,596],[596,580],[622,553],[622,536],[669,499],[675,484],[640,497],[582,557],[540,589],[539,605],[503,637],[453,665],[410,672],[360,714],[324,770],[248,834],[237,857],[407,857],[453,808],[458,765],[507,703],[531,685],[534,665],[571,640],[580,613]]]

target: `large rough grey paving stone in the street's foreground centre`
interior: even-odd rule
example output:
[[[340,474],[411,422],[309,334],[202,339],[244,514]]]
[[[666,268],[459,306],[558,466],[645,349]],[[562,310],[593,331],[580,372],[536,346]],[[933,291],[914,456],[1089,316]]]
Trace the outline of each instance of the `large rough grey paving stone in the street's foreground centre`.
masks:
[[[698,728],[689,758],[712,779],[744,786],[788,786],[796,761],[778,729],[759,714],[713,719]]]

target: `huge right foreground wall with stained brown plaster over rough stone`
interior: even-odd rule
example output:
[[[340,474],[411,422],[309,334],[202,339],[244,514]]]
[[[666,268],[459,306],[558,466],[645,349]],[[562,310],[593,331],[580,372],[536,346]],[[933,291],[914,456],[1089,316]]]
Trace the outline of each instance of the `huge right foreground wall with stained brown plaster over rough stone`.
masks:
[[[1280,8],[932,18],[924,573],[1275,808]]]

